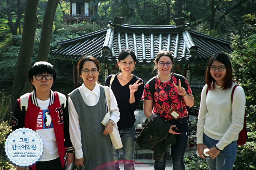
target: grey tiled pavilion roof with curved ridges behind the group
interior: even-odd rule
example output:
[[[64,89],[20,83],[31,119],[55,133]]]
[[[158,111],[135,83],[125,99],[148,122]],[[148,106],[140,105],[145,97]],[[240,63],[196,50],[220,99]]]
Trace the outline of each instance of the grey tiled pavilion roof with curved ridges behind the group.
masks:
[[[108,27],[83,36],[57,42],[50,51],[56,59],[79,60],[93,55],[99,62],[117,63],[124,49],[135,52],[137,64],[150,65],[160,50],[170,51],[174,63],[207,63],[217,52],[230,53],[230,42],[190,29],[190,24],[127,25],[108,22]]]

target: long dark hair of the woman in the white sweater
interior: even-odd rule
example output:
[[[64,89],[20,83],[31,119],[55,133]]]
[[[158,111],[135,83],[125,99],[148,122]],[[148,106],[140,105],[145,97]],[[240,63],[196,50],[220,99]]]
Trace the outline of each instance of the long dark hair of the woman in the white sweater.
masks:
[[[207,70],[206,70],[206,84],[208,86],[208,89],[211,90],[213,88],[213,90],[214,90],[214,86],[211,87],[211,85],[215,83],[215,79],[211,76],[210,67],[215,60],[217,60],[218,62],[221,62],[222,64],[224,64],[226,66],[226,75],[224,78],[224,83],[221,86],[222,90],[231,88],[232,83],[234,81],[232,79],[233,71],[232,71],[232,66],[231,66],[230,60],[229,60],[229,56],[222,52],[219,52],[217,54],[212,55],[208,61],[208,66],[207,66]]]

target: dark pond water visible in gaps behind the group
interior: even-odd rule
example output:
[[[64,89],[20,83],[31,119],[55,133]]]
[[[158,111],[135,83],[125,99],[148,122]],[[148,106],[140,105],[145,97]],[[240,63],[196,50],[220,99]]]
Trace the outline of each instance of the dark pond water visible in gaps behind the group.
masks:
[[[74,90],[74,84],[54,84],[52,86],[53,91],[58,91],[64,95],[68,95],[71,91]],[[192,94],[195,98],[194,106],[200,106],[200,99],[201,99],[201,91],[202,88],[192,88]],[[5,96],[11,95],[12,92],[12,83],[11,82],[0,82],[0,93],[4,92]],[[0,94],[3,96],[2,94]],[[0,97],[1,97],[0,96]]]

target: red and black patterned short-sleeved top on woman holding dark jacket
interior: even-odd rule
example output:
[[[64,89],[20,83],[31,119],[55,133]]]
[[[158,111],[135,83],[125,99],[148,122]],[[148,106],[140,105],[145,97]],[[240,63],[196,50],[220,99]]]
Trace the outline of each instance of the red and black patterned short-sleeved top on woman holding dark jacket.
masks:
[[[187,86],[187,93],[191,94],[191,88],[185,77],[184,81]],[[176,110],[176,112],[180,114],[178,118],[183,118],[188,115],[184,100],[181,95],[178,95],[177,89],[174,87],[173,82],[175,84],[178,84],[177,79],[174,75],[172,76],[172,79],[166,83],[162,83],[158,79],[158,76],[156,76],[154,100],[152,94],[149,91],[148,83],[144,87],[142,95],[142,99],[153,100],[153,114],[158,114],[165,120],[174,119],[171,115],[168,114],[171,108],[174,108],[174,110]]]

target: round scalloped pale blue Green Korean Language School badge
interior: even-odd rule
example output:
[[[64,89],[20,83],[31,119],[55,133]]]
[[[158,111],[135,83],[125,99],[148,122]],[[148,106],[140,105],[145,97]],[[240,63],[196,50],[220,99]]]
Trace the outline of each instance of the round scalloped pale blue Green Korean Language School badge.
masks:
[[[43,142],[34,130],[20,128],[10,133],[4,148],[12,163],[18,166],[29,166],[41,157]]]

